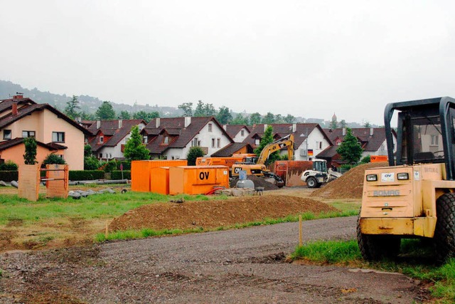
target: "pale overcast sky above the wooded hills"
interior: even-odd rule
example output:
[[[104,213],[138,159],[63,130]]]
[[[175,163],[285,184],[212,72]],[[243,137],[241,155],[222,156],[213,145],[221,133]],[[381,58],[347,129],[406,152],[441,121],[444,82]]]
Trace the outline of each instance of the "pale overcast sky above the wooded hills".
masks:
[[[455,97],[455,1],[0,1],[0,79],[115,103],[198,100],[383,124]]]

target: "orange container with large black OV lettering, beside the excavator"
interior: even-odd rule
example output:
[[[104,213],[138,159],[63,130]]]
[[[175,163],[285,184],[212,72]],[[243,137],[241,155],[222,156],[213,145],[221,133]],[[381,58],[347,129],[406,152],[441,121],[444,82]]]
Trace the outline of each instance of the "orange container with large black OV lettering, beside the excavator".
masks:
[[[205,194],[214,187],[229,188],[226,166],[181,166],[169,168],[169,194]]]

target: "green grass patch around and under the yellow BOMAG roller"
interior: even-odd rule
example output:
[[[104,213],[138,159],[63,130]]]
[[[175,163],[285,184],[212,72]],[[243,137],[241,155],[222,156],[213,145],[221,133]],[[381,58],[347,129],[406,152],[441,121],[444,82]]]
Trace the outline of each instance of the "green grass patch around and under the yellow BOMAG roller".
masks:
[[[305,259],[316,263],[350,263],[363,268],[376,268],[381,271],[403,273],[412,278],[434,285],[432,296],[438,303],[455,303],[455,258],[442,266],[434,264],[431,243],[412,239],[402,240],[401,253],[395,261],[364,261],[357,241],[314,241],[297,246],[291,258]]]

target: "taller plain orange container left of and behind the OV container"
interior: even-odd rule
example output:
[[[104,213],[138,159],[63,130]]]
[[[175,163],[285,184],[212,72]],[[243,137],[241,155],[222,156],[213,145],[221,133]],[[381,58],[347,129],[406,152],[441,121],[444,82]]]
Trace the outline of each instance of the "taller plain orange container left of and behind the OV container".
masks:
[[[175,160],[133,160],[131,162],[131,189],[137,192],[151,192],[151,169],[157,167],[186,166],[186,159]]]

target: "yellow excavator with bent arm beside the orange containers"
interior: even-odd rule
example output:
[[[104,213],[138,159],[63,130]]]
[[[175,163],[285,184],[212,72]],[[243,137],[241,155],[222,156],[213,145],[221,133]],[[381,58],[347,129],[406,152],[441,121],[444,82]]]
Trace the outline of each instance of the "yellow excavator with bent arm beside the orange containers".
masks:
[[[290,134],[272,142],[264,147],[256,162],[236,162],[232,164],[232,177],[238,177],[240,170],[245,170],[247,174],[253,174],[258,177],[273,177],[277,181],[277,186],[283,186],[284,182],[281,177],[273,174],[265,167],[265,162],[270,154],[287,148],[287,157],[289,160],[294,158],[294,135]]]

